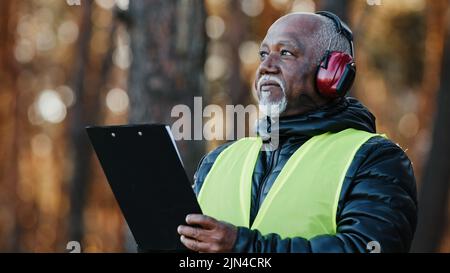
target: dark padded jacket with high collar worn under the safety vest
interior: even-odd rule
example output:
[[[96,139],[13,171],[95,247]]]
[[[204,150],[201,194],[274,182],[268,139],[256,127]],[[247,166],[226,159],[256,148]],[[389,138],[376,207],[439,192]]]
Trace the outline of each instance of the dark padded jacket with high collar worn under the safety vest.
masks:
[[[375,117],[361,103],[345,98],[304,115],[280,119],[280,143],[273,152],[260,152],[252,180],[250,221],[289,157],[312,136],[347,128],[375,132]],[[200,188],[219,146],[200,161],[194,191]],[[417,222],[416,183],[411,162],[390,140],[372,137],[355,155],[345,177],[336,214],[336,235],[281,239],[238,227],[236,252],[368,252],[377,241],[382,252],[407,252]],[[250,223],[250,224],[251,224]]]

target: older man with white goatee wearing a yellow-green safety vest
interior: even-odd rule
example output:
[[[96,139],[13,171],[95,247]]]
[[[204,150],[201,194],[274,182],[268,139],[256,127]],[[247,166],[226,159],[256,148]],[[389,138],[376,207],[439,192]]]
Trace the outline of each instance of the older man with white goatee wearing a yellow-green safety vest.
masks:
[[[374,116],[356,99],[318,90],[327,80],[318,65],[333,65],[330,51],[346,62],[339,77],[354,72],[351,37],[333,16],[293,13],[268,30],[255,88],[260,105],[279,109],[278,147],[258,151],[249,138],[201,160],[194,190],[205,215],[188,215],[178,228],[189,249],[409,250],[417,220],[411,162],[375,134]]]

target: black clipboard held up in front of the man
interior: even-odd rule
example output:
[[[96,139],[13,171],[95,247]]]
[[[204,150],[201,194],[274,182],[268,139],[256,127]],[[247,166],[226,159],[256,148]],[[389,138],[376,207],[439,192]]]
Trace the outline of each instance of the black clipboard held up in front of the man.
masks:
[[[187,250],[177,227],[201,209],[169,126],[86,130],[140,251]]]

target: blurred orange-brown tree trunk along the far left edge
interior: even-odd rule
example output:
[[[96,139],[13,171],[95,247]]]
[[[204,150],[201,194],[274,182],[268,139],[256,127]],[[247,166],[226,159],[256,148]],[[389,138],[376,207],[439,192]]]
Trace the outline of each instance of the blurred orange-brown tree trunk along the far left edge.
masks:
[[[19,179],[19,131],[21,125],[21,92],[16,87],[19,74],[14,60],[15,30],[17,11],[20,7],[15,1],[0,3],[0,206],[8,207],[9,228],[0,234],[0,247],[12,252],[20,251],[20,226],[16,222],[18,198],[16,195]],[[12,117],[12,118],[11,118]]]

